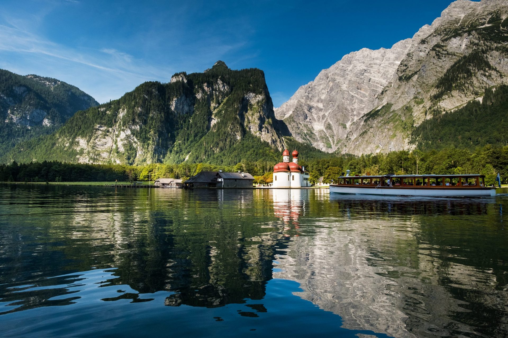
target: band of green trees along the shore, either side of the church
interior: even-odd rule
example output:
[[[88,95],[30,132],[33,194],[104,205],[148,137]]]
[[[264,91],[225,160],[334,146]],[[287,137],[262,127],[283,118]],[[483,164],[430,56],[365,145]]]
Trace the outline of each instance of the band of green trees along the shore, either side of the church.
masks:
[[[497,173],[508,184],[508,146],[485,145],[473,151],[455,147],[439,151],[398,151],[388,154],[330,155],[327,158],[305,159],[300,164],[310,171],[309,181],[315,184],[321,176],[324,183],[336,181],[345,170],[351,174],[482,174],[485,183],[494,183]],[[201,171],[244,171],[252,174],[255,184],[272,182],[272,161],[247,161],[234,165],[209,163],[147,164],[129,166],[118,164],[80,164],[57,161],[0,164],[0,182],[79,182],[101,185],[106,182],[154,181],[160,177],[187,179]]]

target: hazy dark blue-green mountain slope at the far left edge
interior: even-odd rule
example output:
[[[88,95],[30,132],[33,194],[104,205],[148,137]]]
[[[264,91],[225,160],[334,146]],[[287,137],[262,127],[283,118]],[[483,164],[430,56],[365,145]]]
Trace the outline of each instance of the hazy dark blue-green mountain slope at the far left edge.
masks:
[[[53,132],[76,111],[98,104],[65,82],[0,69],[0,156],[20,141]]]

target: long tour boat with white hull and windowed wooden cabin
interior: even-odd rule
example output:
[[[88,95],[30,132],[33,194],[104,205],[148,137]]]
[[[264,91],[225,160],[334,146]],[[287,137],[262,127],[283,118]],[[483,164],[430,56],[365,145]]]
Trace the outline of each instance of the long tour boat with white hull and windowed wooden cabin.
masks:
[[[330,193],[481,197],[495,196],[494,187],[485,186],[485,175],[379,175],[341,176],[330,184]]]

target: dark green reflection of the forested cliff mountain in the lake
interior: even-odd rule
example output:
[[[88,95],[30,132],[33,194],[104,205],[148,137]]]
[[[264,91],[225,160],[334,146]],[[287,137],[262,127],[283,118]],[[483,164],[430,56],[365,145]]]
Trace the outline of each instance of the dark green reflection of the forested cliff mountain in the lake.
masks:
[[[79,193],[63,198],[65,203],[60,201],[55,208],[64,205],[65,211],[52,215],[37,239],[47,241],[46,254],[27,257],[28,275],[115,267],[119,278],[108,280],[110,285],[129,285],[139,293],[173,291],[166,299],[170,306],[217,307],[264,297],[275,247],[283,248],[286,240],[273,222],[273,210],[255,205],[260,202],[253,198],[255,192],[203,190],[190,195],[160,189],[149,193],[150,197],[143,191],[112,191],[104,199]],[[62,242],[66,243],[63,252]],[[31,244],[14,243],[17,247],[7,250],[30,252],[23,246]],[[52,252],[59,257],[53,256],[50,264],[46,257]],[[26,264],[20,257],[20,266],[22,262]],[[4,276],[9,274],[14,278],[19,271],[12,269]],[[30,279],[20,282],[27,284]],[[20,295],[13,294],[12,299]],[[33,298],[26,306],[41,306],[46,296],[31,292]]]

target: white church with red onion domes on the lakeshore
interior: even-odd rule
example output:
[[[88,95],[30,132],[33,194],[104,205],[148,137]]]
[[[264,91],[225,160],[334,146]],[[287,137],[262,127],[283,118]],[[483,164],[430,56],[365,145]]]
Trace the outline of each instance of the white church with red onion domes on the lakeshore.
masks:
[[[298,164],[298,152],[293,152],[293,162],[289,162],[289,151],[282,152],[282,162],[273,167],[274,188],[300,188],[310,186],[309,172]]]

